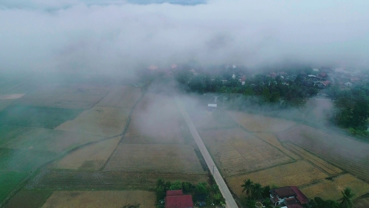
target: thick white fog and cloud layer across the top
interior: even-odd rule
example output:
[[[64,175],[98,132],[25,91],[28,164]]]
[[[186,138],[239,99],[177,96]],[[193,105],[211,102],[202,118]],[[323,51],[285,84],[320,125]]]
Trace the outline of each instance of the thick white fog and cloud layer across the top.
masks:
[[[369,1],[0,1],[0,70],[130,74],[190,59],[369,69]]]

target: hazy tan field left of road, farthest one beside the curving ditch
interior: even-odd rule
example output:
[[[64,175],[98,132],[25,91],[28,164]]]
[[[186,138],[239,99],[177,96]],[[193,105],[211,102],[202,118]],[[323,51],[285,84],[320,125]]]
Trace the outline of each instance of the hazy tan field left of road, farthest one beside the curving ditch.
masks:
[[[132,108],[141,96],[141,88],[113,86],[109,93],[96,106]]]

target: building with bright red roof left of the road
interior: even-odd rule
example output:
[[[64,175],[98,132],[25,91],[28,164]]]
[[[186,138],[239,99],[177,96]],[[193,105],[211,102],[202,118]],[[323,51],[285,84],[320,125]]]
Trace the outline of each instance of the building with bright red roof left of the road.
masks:
[[[183,195],[182,190],[166,191],[165,208],[193,208],[191,195]]]

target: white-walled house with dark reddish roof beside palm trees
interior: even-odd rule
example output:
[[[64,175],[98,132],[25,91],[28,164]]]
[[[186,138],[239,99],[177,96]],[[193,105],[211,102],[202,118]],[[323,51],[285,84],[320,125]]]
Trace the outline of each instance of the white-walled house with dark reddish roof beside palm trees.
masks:
[[[296,186],[270,189],[270,201],[273,205],[285,205],[287,208],[303,208],[307,197]]]

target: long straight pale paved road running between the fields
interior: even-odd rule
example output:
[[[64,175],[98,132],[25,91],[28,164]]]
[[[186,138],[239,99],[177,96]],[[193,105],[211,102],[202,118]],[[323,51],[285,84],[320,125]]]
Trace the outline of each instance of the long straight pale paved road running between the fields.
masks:
[[[199,135],[199,133],[197,132],[195,126],[192,123],[191,118],[189,117],[189,115],[186,112],[186,109],[183,107],[182,101],[180,100],[179,97],[175,97],[177,105],[179,107],[179,110],[181,111],[184,120],[186,120],[186,123],[188,125],[188,127],[190,128],[191,134],[193,136],[193,138],[195,139],[196,143],[197,143],[197,147],[199,147],[201,154],[204,157],[204,160],[209,168],[210,171],[213,171],[213,166],[215,165],[213,159],[210,157],[209,152],[207,151],[204,142],[201,140],[201,137]],[[238,208],[236,201],[234,201],[234,198],[230,192],[230,190],[228,189],[227,185],[225,184],[223,177],[220,175],[218,168],[215,166],[214,167],[214,179],[215,182],[218,184],[219,186],[219,190],[221,192],[221,194],[223,195],[223,197],[225,198],[225,204],[227,205],[227,208]]]

